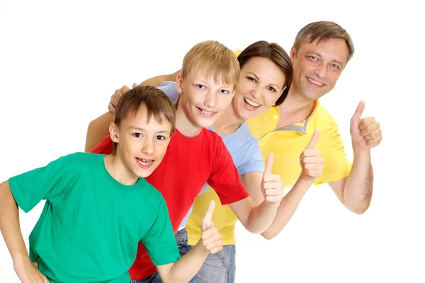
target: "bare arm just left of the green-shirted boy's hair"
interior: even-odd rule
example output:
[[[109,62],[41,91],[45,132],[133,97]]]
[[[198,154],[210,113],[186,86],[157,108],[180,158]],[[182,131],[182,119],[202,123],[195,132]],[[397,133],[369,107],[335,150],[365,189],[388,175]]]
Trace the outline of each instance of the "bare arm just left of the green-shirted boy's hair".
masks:
[[[86,148],[84,151],[89,152],[91,149],[94,149],[109,134],[109,125],[111,125],[113,119],[113,114],[106,112],[90,122],[87,129]]]

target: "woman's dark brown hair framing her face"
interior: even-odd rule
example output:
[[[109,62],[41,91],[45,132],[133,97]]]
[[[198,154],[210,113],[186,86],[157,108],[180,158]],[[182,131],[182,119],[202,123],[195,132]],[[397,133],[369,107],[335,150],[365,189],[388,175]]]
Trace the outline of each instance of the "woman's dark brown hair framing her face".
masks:
[[[271,62],[276,64],[276,66],[283,71],[283,74],[285,74],[285,85],[283,87],[286,86],[286,88],[279,96],[278,100],[276,100],[275,105],[278,106],[282,104],[288,96],[290,84],[293,80],[293,64],[290,61],[288,53],[277,43],[268,43],[264,40],[254,42],[249,45],[249,47],[246,47],[237,57],[241,69],[244,67],[244,64],[249,62],[249,59],[253,57],[270,59]]]

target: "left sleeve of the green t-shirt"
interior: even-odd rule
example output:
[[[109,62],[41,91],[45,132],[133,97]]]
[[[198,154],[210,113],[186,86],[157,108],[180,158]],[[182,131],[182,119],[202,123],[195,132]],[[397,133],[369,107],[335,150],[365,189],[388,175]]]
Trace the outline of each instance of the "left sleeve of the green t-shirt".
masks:
[[[55,202],[64,190],[62,158],[45,167],[36,168],[8,180],[16,203],[24,212],[29,212],[41,200]]]

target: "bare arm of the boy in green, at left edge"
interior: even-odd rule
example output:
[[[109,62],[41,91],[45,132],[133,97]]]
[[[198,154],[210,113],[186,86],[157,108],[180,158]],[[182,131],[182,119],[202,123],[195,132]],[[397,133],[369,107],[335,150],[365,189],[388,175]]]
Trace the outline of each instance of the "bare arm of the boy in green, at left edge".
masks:
[[[18,205],[13,198],[8,181],[0,185],[0,231],[11,254],[13,265],[30,262],[19,226]]]

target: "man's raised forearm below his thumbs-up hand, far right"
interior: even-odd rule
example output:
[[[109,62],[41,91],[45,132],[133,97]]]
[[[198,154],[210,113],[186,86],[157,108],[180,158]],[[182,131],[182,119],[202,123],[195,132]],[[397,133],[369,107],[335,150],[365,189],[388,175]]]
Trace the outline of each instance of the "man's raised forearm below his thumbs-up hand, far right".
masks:
[[[344,185],[344,205],[352,212],[362,214],[370,205],[372,190],[373,168],[370,151],[355,151],[353,166]]]

